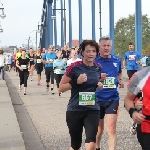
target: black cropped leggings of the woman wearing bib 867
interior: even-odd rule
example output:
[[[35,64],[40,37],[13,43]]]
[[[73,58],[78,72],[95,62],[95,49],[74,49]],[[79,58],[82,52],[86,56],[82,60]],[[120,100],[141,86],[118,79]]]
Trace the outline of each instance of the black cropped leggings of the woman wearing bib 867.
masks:
[[[67,111],[66,122],[71,136],[71,147],[78,150],[82,143],[83,126],[85,128],[85,143],[96,143],[100,111]]]

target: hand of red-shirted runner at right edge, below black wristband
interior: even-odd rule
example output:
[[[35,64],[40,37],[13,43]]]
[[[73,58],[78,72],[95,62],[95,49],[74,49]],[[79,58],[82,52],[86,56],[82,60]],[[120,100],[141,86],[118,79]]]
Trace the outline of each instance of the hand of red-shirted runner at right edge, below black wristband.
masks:
[[[132,119],[135,123],[140,124],[145,120],[145,116],[143,114],[138,113],[137,111],[133,112]]]

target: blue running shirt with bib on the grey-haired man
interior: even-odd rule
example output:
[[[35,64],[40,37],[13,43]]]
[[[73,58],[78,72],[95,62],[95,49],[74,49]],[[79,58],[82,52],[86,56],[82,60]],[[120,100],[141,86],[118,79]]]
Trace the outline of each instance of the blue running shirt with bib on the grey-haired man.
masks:
[[[96,63],[100,63],[102,66],[102,73],[107,74],[107,86],[104,84],[102,90],[96,90],[96,98],[98,101],[111,101],[119,100],[118,87],[118,74],[122,72],[121,61],[117,56],[111,55],[111,58],[103,58],[98,56],[95,60]],[[108,87],[108,88],[107,88]]]

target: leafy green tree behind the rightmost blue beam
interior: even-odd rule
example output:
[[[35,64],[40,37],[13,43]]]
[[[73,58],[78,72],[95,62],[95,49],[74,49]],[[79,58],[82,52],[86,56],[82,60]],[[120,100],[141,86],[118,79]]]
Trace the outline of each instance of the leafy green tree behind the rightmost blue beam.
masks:
[[[130,42],[135,41],[135,15],[121,18],[115,25],[115,54],[123,55],[128,50]],[[142,46],[147,50],[150,44],[150,19],[142,16]]]

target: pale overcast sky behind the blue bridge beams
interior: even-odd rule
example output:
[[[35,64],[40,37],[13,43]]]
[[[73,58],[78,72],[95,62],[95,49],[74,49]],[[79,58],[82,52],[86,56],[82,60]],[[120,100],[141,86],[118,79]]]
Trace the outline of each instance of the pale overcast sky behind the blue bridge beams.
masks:
[[[35,46],[36,32],[38,29],[38,22],[41,19],[43,0],[0,0],[4,7],[5,19],[0,18],[0,25],[3,33],[0,33],[0,46],[22,46],[27,44],[27,39],[31,37],[32,45]],[[67,42],[69,38],[68,31],[68,0],[66,0],[66,16],[67,16]],[[122,17],[128,17],[129,14],[135,13],[135,0],[114,0],[115,23]],[[96,40],[98,41],[99,30],[99,0],[96,3]],[[101,24],[102,35],[106,36],[109,33],[109,0],[101,0]],[[60,2],[57,0],[57,9],[60,8]],[[91,14],[91,0],[82,0],[83,12],[83,39],[92,38],[92,14]],[[1,10],[0,10],[1,13]],[[150,18],[149,0],[142,0],[142,14],[147,14]],[[56,13],[57,20],[57,42],[60,45],[60,12]],[[78,0],[72,0],[72,36],[73,39],[78,39]],[[40,34],[38,34],[39,43]]]

